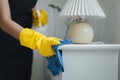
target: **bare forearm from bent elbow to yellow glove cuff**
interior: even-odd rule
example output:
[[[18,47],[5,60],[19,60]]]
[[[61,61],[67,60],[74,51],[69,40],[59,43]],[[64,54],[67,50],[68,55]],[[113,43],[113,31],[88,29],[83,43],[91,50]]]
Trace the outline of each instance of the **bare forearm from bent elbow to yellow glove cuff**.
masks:
[[[16,39],[19,39],[19,34],[21,30],[23,29],[22,26],[17,24],[16,22],[12,20],[4,20],[0,23],[0,28],[8,33],[9,35],[13,36]]]

